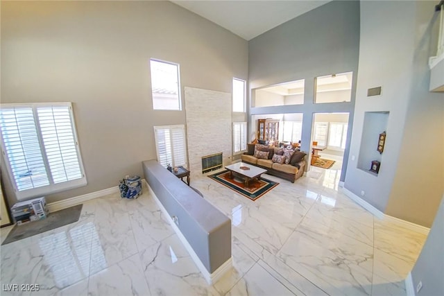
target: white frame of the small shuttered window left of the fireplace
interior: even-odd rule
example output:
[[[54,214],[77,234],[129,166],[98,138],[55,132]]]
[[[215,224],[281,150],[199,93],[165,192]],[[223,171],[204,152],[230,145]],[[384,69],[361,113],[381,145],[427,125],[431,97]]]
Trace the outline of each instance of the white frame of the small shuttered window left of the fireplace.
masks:
[[[183,142],[180,143],[179,145],[176,143],[176,145],[173,143],[173,137],[170,137],[169,139],[169,148],[165,148],[166,150],[170,150],[170,151],[166,151],[167,155],[160,155],[160,149],[159,149],[159,144],[160,144],[160,139],[159,136],[157,134],[158,130],[169,130],[169,134],[172,134],[172,130],[180,130],[181,132],[181,136],[183,139]],[[167,167],[167,164],[171,164],[171,166],[184,166],[185,168],[188,167],[188,162],[187,162],[187,137],[186,137],[186,133],[185,133],[185,125],[180,124],[180,125],[155,125],[154,126],[154,137],[155,137],[155,150],[156,150],[156,155],[157,155],[157,162],[159,162],[159,164],[161,164],[162,166],[164,166],[165,168]],[[166,143],[167,145],[167,143]],[[182,149],[183,150],[183,161],[180,162],[178,159],[178,155],[174,155],[174,150],[179,150]],[[170,154],[170,155],[169,155]],[[162,157],[166,158],[165,162],[162,162],[161,159]]]

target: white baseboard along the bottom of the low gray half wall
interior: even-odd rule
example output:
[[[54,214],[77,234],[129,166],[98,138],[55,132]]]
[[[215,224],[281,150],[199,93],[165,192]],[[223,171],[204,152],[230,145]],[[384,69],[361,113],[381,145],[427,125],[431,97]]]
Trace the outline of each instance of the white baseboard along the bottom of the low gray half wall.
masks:
[[[205,278],[205,280],[207,281],[207,283],[209,285],[214,284],[216,281],[218,281],[225,274],[225,272],[228,272],[228,270],[230,270],[232,268],[232,257],[230,257],[230,259],[228,259],[227,261],[225,261],[225,263],[223,263],[221,266],[219,266],[219,268],[214,270],[214,272],[210,273],[207,270],[207,268],[205,268],[205,265],[203,265],[202,261],[200,261],[196,252],[194,252],[193,247],[191,247],[191,245],[188,243],[187,238],[185,238],[185,236],[183,236],[179,227],[176,225],[176,223],[174,223],[173,218],[171,218],[167,209],[164,208],[164,205],[162,204],[162,202],[160,202],[160,200],[157,198],[153,189],[151,189],[151,187],[148,185],[148,183],[146,183],[146,185],[148,186],[148,190],[150,191],[151,195],[153,195],[155,202],[157,202],[157,205],[160,207],[162,212],[167,217],[167,220],[171,224],[171,227],[173,227],[174,232],[176,232],[180,241],[184,245],[185,249],[187,249],[189,255],[191,256],[191,259],[193,259],[194,263],[196,263],[196,265],[197,265],[197,268],[200,270],[200,272],[202,272],[202,275]]]

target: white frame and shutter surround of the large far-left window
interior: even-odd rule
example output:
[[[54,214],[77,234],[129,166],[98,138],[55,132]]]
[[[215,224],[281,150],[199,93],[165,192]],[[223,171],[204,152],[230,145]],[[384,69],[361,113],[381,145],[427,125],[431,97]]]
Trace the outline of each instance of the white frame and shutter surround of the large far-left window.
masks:
[[[44,115],[42,114],[42,116],[39,117],[39,110],[48,110],[48,108],[57,108],[57,107],[66,107],[67,110],[69,111],[69,124],[70,124],[70,128],[67,129],[63,129],[63,132],[67,132],[67,130],[71,130],[71,134],[68,135],[68,137],[72,137],[72,139],[69,139],[68,142],[64,143],[64,140],[62,139],[62,136],[60,136],[60,134],[57,134],[57,132],[60,132],[60,130],[56,130],[55,132],[51,132],[48,133],[48,129],[46,129],[45,131],[45,127],[44,127]],[[60,191],[66,191],[68,189],[73,189],[76,187],[80,187],[80,186],[85,186],[87,184],[87,180],[86,180],[86,176],[85,176],[85,169],[83,168],[83,162],[82,162],[82,157],[80,154],[80,147],[78,145],[78,137],[77,137],[77,132],[76,132],[76,123],[74,122],[74,114],[72,111],[72,105],[71,103],[67,102],[67,103],[30,103],[30,104],[0,104],[0,109],[2,110],[15,110],[15,118],[17,119],[17,112],[20,112],[19,110],[28,110],[28,112],[32,112],[33,114],[33,123],[31,121],[31,117],[28,117],[29,124],[33,124],[33,129],[35,128],[35,134],[33,135],[34,139],[33,141],[31,141],[31,144],[26,144],[25,143],[25,139],[24,139],[24,132],[22,131],[22,136],[19,137],[19,141],[20,143],[17,144],[17,148],[22,150],[22,153],[25,157],[25,161],[24,162],[19,162],[19,164],[22,164],[22,170],[28,170],[26,173],[31,173],[31,175],[27,175],[24,176],[24,174],[20,174],[18,175],[18,172],[16,169],[12,169],[12,162],[10,159],[11,157],[17,157],[17,155],[12,155],[12,150],[9,150],[9,145],[6,145],[6,141],[8,141],[8,143],[10,143],[10,139],[8,139],[8,137],[6,136],[6,126],[3,127],[3,117],[0,114],[0,141],[1,141],[1,153],[3,155],[3,159],[4,159],[4,163],[6,164],[7,170],[8,170],[8,174],[10,177],[10,180],[12,182],[12,186],[14,187],[14,191],[15,191],[15,195],[17,200],[26,200],[28,198],[35,198],[37,196],[43,196],[43,195],[47,195],[50,193],[56,193],[56,192],[60,192]],[[31,110],[31,111],[30,111]],[[51,113],[53,112],[53,110],[51,110]],[[46,114],[47,115],[47,114]],[[48,117],[46,116],[46,119]],[[56,119],[51,117],[51,120],[53,120],[54,126],[57,126],[56,123]],[[14,121],[17,122],[17,121]],[[23,121],[20,121],[21,123]],[[42,125],[41,125],[42,124]],[[66,128],[66,121],[64,121],[64,123],[61,123],[60,121],[58,122],[58,126],[59,128],[62,127],[62,125],[65,124],[65,128]],[[19,127],[19,125],[17,123],[17,129]],[[30,125],[28,125],[30,126]],[[63,128],[63,127],[62,127]],[[49,129],[50,130],[50,129]],[[13,132],[13,130],[10,130],[10,132]],[[18,132],[18,134],[20,134],[20,132]],[[46,134],[46,135],[44,135]],[[49,143],[49,135],[51,135],[51,143]],[[17,138],[16,138],[17,139]],[[45,143],[45,139],[46,139],[46,143]],[[39,147],[37,149],[35,149],[35,142],[38,142]],[[31,146],[29,146],[31,145]],[[76,150],[76,158],[77,158],[77,162],[78,164],[76,164],[76,166],[78,166],[78,168],[76,168],[76,173],[74,173],[74,175],[69,176],[69,166],[65,166],[65,163],[63,162],[67,162],[68,161],[68,157],[66,156],[66,150],[65,148],[60,148],[62,146],[65,147],[69,147],[68,150],[72,151],[73,148],[75,148]],[[29,147],[34,147],[33,150],[39,150],[37,151],[37,157],[41,157],[40,159],[40,164],[39,164],[39,173],[38,175],[40,175],[40,177],[42,177],[43,179],[47,179],[44,182],[47,183],[45,185],[42,184],[38,184],[39,182],[37,182],[37,178],[39,178],[38,175],[34,175],[32,174],[33,169],[36,170],[36,168],[33,168],[31,165],[31,159],[33,157],[30,157],[28,155],[28,153],[26,153],[26,150],[28,148],[26,148],[25,146]],[[50,148],[51,147],[51,148]],[[56,148],[54,148],[56,147]],[[46,149],[50,149],[50,150],[46,150]],[[54,150],[56,149],[56,150]],[[65,150],[65,151],[64,151]],[[8,151],[10,152],[8,154]],[[60,181],[56,179],[57,171],[58,168],[56,168],[55,163],[60,164],[60,162],[55,162],[54,159],[55,157],[53,156],[53,151],[55,151],[55,153],[60,156],[61,162],[62,162],[62,166],[63,166],[63,171],[66,175],[66,179],[71,178],[71,180],[66,180],[66,181]],[[52,156],[51,156],[52,155]],[[70,155],[69,159],[73,159],[72,158],[72,154]],[[15,164],[17,165],[17,164]],[[58,171],[60,173],[60,170]],[[14,175],[15,173],[15,175]],[[46,174],[46,177],[44,176],[44,174]],[[59,174],[60,176],[60,174]],[[80,176],[80,177],[76,177],[76,176]],[[28,183],[31,183],[31,188],[28,189],[20,189],[20,187],[23,186],[19,186],[19,182],[26,182],[26,177],[28,177]],[[76,177],[74,179],[74,177]]]

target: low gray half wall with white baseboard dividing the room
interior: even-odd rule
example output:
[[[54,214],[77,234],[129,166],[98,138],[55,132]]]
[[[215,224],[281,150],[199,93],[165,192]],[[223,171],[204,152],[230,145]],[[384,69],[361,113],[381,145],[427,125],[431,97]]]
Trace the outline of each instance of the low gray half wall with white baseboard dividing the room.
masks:
[[[200,272],[208,284],[217,281],[232,267],[231,220],[157,161],[146,160],[142,166],[154,197]]]

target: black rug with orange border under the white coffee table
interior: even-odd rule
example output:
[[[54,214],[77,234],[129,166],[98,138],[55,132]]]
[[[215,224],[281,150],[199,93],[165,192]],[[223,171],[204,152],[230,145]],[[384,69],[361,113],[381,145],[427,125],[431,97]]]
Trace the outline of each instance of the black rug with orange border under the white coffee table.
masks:
[[[273,182],[261,177],[260,180],[250,180],[247,188],[245,186],[244,178],[241,176],[237,177],[236,175],[234,175],[233,178],[230,178],[230,171],[215,173],[213,175],[209,175],[208,177],[227,186],[237,193],[244,195],[246,198],[250,198],[250,200],[257,200],[279,184],[278,182]]]

